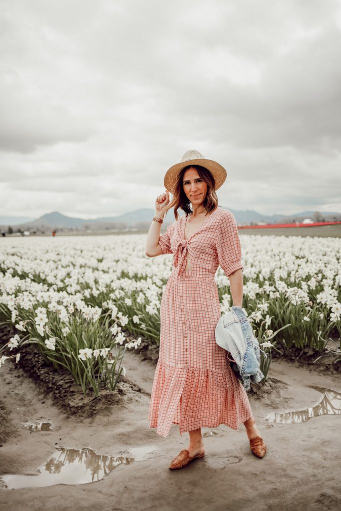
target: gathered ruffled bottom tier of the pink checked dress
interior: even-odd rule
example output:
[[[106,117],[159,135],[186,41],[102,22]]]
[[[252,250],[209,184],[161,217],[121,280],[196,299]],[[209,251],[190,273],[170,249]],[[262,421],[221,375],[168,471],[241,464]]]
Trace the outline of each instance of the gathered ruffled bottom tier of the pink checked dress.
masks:
[[[230,365],[224,371],[174,367],[157,362],[150,398],[150,428],[167,436],[172,424],[180,435],[220,424],[238,429],[252,416],[247,394]]]

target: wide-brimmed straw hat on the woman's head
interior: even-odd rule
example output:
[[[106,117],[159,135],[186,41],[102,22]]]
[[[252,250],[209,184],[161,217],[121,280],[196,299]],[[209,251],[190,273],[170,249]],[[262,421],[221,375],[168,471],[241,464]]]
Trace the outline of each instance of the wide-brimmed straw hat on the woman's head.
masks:
[[[174,195],[175,183],[179,172],[188,165],[201,165],[201,167],[208,169],[214,177],[216,190],[221,187],[227,176],[225,169],[220,164],[205,158],[198,151],[192,149],[184,154],[180,163],[173,165],[165,174],[165,189],[169,190],[171,194]]]

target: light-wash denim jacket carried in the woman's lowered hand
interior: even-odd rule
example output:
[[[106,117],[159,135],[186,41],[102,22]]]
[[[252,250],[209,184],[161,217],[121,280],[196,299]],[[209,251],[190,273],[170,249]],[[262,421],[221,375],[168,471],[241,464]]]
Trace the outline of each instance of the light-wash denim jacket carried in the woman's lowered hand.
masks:
[[[216,343],[230,352],[233,360],[230,365],[245,390],[250,383],[258,383],[264,375],[259,368],[261,351],[254,336],[251,323],[241,307],[232,306],[232,310],[223,314],[215,329]]]

